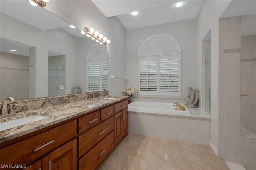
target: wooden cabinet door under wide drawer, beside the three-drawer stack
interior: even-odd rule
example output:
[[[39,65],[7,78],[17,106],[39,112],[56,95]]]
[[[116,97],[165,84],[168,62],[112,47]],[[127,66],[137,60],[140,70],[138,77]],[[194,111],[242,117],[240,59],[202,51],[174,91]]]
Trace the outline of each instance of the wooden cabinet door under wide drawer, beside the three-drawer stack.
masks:
[[[42,170],[76,170],[76,139],[42,158]]]

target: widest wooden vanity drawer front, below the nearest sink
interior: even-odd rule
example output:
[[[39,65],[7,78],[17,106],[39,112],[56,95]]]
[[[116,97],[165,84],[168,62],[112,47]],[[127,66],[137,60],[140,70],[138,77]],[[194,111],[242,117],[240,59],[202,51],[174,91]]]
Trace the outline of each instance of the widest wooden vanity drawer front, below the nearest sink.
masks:
[[[1,164],[29,164],[76,137],[76,120],[1,149]]]

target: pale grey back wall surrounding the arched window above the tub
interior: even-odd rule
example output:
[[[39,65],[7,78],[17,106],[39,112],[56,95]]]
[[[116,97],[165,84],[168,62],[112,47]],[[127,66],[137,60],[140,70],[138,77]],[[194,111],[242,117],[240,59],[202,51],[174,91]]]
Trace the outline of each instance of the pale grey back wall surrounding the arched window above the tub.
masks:
[[[191,86],[193,89],[198,88],[195,19],[127,30],[127,85],[138,88],[138,50],[143,41],[148,37],[160,33],[174,37],[180,44],[182,52],[181,96],[188,96],[188,86]]]

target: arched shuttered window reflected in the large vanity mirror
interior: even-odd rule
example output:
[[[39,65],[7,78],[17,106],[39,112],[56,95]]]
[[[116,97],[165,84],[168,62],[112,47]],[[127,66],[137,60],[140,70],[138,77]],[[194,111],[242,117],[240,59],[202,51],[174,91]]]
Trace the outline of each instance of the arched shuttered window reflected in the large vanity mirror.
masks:
[[[87,91],[108,88],[108,52],[106,45],[93,45],[86,57]]]

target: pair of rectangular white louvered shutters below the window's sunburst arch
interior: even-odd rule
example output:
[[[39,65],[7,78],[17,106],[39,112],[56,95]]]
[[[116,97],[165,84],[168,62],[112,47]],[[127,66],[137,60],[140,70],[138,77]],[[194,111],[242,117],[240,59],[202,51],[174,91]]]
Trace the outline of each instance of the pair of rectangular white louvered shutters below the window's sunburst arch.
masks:
[[[139,57],[139,94],[180,95],[180,55]]]

